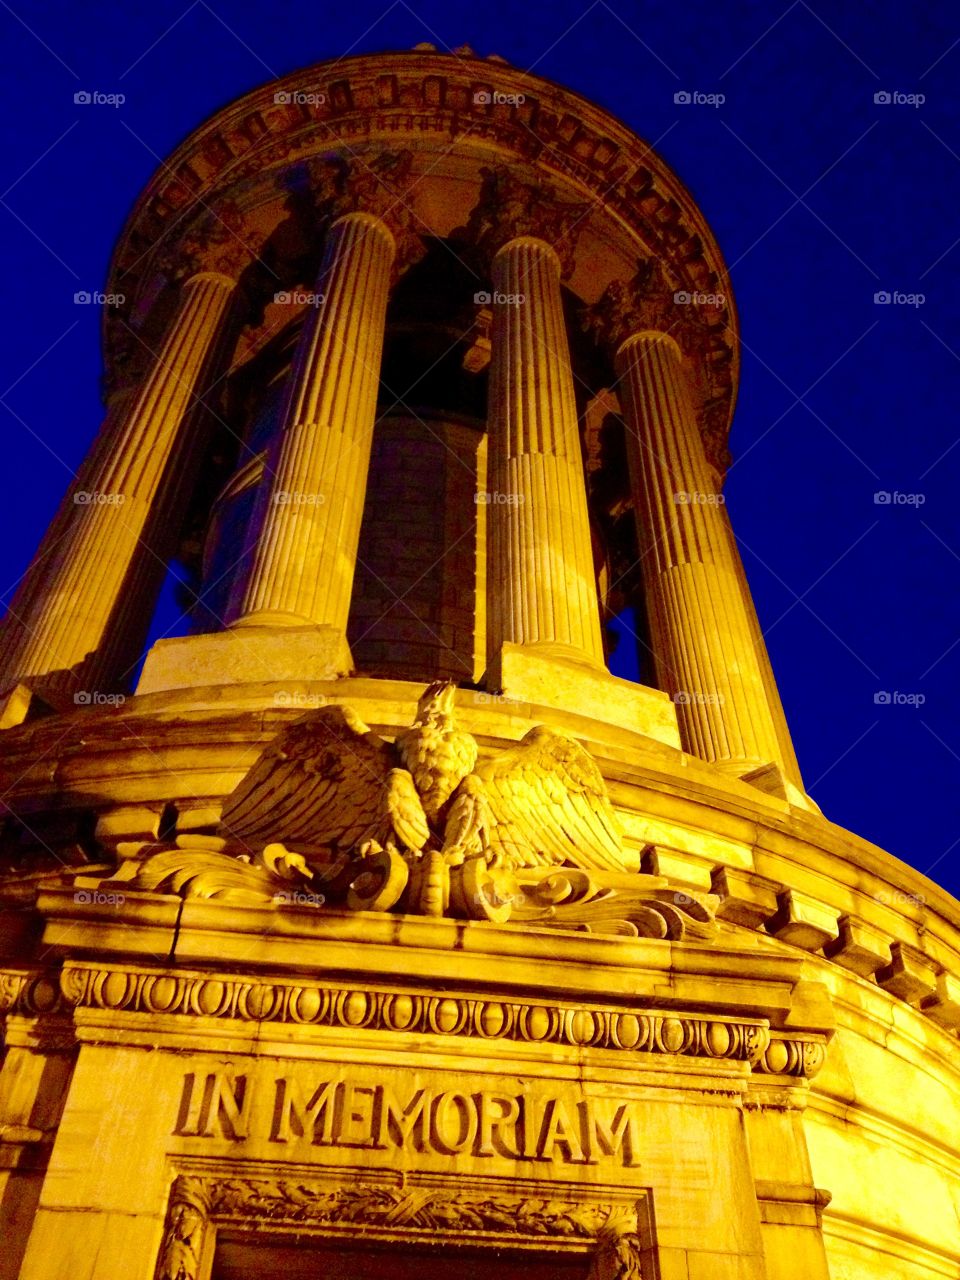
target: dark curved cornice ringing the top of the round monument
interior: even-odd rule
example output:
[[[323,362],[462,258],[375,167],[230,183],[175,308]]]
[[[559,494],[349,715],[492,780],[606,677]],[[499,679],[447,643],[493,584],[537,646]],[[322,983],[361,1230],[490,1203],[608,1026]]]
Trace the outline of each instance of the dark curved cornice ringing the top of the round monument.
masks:
[[[319,63],[253,90],[200,125],[154,175],[120,234],[110,291],[138,294],[172,228],[188,227],[238,186],[317,154],[371,145],[472,145],[532,168],[603,209],[620,239],[653,253],[677,289],[722,294],[717,349],[705,353],[714,439],[726,436],[737,384],[736,312],[727,268],[703,214],[672,169],[622,122],[539,76],[460,54],[385,52]],[[600,280],[603,288],[608,280]],[[586,301],[595,301],[588,298]],[[105,326],[122,323],[108,314]],[[110,349],[109,335],[105,349]]]

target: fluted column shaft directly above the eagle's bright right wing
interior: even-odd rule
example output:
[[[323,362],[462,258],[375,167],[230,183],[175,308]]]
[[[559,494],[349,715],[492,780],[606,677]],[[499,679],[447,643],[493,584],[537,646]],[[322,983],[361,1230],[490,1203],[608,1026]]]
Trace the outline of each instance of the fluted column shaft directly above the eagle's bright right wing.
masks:
[[[488,655],[550,645],[603,666],[561,262],[534,236],[493,259]],[[497,298],[522,301],[497,301]]]

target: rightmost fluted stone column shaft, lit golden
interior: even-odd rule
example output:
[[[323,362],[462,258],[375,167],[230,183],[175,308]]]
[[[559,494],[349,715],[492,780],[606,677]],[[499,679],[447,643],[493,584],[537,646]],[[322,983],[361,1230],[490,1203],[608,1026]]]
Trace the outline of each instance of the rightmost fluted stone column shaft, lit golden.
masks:
[[[737,772],[785,764],[726,508],[703,451],[680,348],[660,333],[617,353],[658,682],[684,746]],[[795,763],[790,769],[795,772]]]

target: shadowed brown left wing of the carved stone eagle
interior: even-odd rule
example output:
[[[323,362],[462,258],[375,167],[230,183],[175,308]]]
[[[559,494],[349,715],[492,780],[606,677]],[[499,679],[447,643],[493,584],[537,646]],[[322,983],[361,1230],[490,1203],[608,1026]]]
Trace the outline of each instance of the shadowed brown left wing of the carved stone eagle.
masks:
[[[301,716],[266,746],[227,797],[220,833],[259,852],[275,841],[352,850],[383,823],[389,742],[348,707]]]

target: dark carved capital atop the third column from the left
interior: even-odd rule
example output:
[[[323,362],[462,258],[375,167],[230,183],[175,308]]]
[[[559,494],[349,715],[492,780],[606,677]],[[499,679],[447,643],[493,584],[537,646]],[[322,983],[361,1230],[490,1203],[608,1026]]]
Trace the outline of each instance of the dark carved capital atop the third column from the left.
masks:
[[[484,265],[511,241],[527,238],[549,244],[561,274],[570,275],[577,227],[590,206],[557,200],[545,183],[526,182],[509,165],[481,169],[480,175],[480,197],[467,220],[465,238]]]

